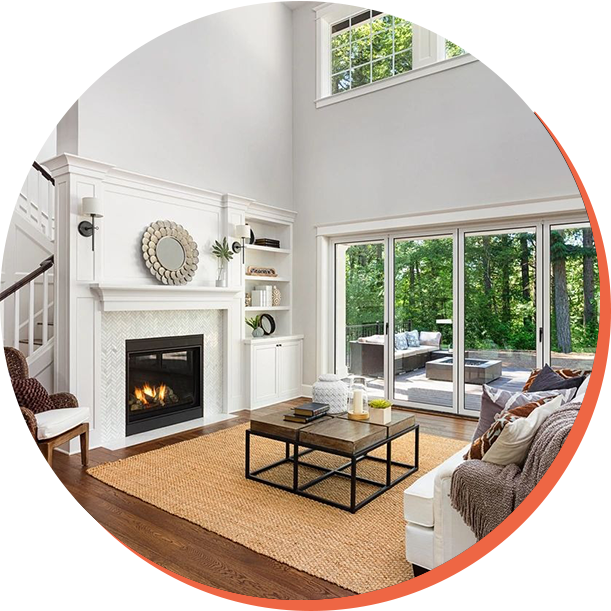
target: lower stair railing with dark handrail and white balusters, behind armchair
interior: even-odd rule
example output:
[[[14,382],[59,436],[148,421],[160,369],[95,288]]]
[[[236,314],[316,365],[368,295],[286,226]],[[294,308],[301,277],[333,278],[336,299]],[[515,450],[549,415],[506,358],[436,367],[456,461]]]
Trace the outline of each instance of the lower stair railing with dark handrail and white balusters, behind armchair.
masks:
[[[49,270],[53,267],[54,258],[45,259],[34,271],[27,274],[0,293],[0,304],[4,310],[5,301],[13,297],[13,333],[7,337],[7,343],[12,342],[14,348],[21,350],[29,358],[37,350],[44,348],[50,341],[50,312],[53,301],[49,299]],[[42,296],[40,307],[36,309],[36,280],[42,276]],[[22,323],[22,296],[27,298],[27,318]],[[7,302],[10,307],[10,302]],[[42,319],[40,321],[39,319]],[[42,322],[38,325],[38,322]],[[37,327],[41,327],[40,336],[36,336]],[[27,348],[25,349],[24,346]]]

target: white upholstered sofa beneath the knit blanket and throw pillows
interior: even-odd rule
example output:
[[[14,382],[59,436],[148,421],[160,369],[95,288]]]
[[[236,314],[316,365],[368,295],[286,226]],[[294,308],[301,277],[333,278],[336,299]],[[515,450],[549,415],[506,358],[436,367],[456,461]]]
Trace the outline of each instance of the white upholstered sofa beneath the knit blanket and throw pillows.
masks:
[[[587,381],[572,401],[581,402],[586,389]],[[403,494],[405,557],[413,565],[415,575],[437,568],[477,542],[450,502],[452,476],[469,448],[467,444]]]

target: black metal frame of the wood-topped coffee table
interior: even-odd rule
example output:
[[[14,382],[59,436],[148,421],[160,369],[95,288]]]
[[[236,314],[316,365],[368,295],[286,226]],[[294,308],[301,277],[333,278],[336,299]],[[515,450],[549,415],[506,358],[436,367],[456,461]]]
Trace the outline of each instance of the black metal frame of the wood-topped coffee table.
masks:
[[[408,433],[414,432],[414,464],[408,465],[406,463],[397,462],[392,460],[392,442],[399,437],[403,437]],[[281,460],[278,460],[270,465],[266,465],[265,467],[261,467],[260,469],[256,469],[255,471],[250,470],[250,451],[251,451],[251,436],[255,437],[263,437],[265,439],[271,439],[273,441],[279,441],[286,445],[285,457]],[[291,446],[293,446],[293,454],[291,455]],[[378,456],[369,456],[370,452],[381,448],[382,446],[386,446],[386,458],[381,458]],[[304,450],[300,451],[299,448],[303,447]],[[348,459],[348,462],[342,464],[341,466],[335,469],[329,469],[328,467],[323,467],[321,465],[315,465],[313,463],[309,463],[303,460],[300,460],[303,456],[311,454],[312,452],[323,452],[325,454],[331,454],[333,456],[341,456]],[[246,453],[245,453],[245,474],[246,479],[253,480],[255,482],[260,482],[262,484],[267,484],[268,486],[272,486],[273,488],[278,488],[280,490],[285,490],[286,492],[292,492],[298,496],[302,496],[308,499],[312,499],[318,501],[320,503],[324,503],[326,505],[331,505],[332,507],[336,507],[337,509],[343,509],[344,511],[349,511],[351,513],[356,513],[359,509],[362,509],[371,501],[377,499],[380,495],[384,494],[384,492],[390,490],[404,479],[408,478],[410,475],[418,471],[419,468],[419,453],[420,453],[420,425],[414,424],[413,426],[395,433],[394,435],[387,437],[381,441],[378,441],[375,444],[372,444],[359,452],[354,454],[350,454],[348,452],[342,452],[340,450],[333,450],[326,447],[317,446],[314,444],[303,443],[299,441],[299,434],[297,434],[297,440],[287,440],[285,437],[280,437],[278,435],[272,435],[269,433],[263,433],[260,431],[246,431]],[[375,480],[361,477],[357,475],[357,465],[362,460],[372,460],[375,462],[385,463],[386,464],[386,481],[385,482],[377,482]],[[267,471],[271,471],[281,465],[292,464],[293,466],[293,485],[285,486],[284,484],[279,484],[277,482],[272,482],[266,480],[262,477],[259,477],[262,473]],[[309,467],[311,469],[315,469],[318,471],[322,471],[323,473],[318,477],[306,482],[302,486],[299,485],[299,467]],[[392,479],[392,467],[402,467],[407,469],[405,473],[400,475],[399,477]],[[346,473],[346,470],[350,469],[349,473]],[[336,501],[332,501],[330,499],[325,499],[324,497],[318,496],[316,494],[312,494],[308,492],[308,489],[316,484],[319,484],[323,480],[333,477],[337,475],[339,477],[345,477],[350,479],[350,504],[344,505],[342,503],[337,503]],[[369,484],[372,486],[376,486],[378,490],[374,493],[370,494],[368,497],[360,501],[356,502],[356,484],[357,482],[362,482],[365,484]]]

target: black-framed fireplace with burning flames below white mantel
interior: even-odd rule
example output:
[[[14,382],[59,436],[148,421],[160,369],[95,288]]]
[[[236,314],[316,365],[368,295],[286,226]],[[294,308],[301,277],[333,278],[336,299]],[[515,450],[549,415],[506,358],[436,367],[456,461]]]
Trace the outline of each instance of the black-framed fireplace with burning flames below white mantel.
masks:
[[[125,434],[201,418],[203,335],[129,339]]]

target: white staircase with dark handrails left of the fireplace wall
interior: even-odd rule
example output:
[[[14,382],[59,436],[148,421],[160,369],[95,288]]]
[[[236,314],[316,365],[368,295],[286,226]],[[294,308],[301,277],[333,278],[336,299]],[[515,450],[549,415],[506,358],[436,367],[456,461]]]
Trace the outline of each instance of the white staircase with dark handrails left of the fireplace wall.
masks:
[[[36,162],[19,192],[11,225],[2,261],[4,284],[10,284],[0,292],[2,345],[23,352],[30,375],[52,391],[55,181]],[[24,262],[36,254],[44,260],[33,271],[24,271]]]

